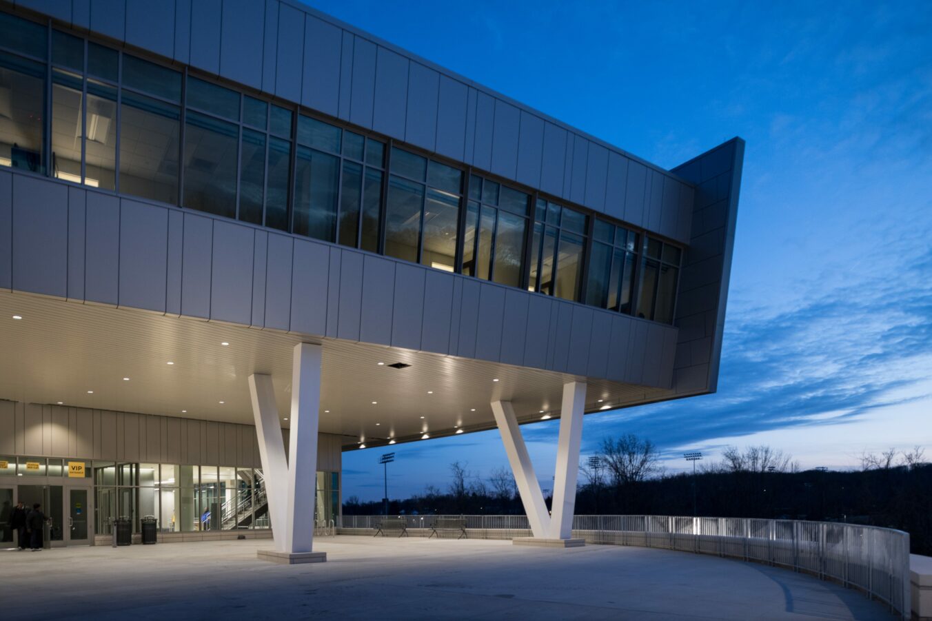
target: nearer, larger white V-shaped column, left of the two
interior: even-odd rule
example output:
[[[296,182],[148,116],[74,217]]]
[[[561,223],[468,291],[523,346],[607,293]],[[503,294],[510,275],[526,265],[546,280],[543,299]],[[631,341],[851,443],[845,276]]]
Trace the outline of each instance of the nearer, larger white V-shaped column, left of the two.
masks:
[[[292,364],[290,464],[285,461],[272,379],[262,374],[249,376],[275,549],[286,554],[308,553],[313,544],[321,346],[295,345]]]

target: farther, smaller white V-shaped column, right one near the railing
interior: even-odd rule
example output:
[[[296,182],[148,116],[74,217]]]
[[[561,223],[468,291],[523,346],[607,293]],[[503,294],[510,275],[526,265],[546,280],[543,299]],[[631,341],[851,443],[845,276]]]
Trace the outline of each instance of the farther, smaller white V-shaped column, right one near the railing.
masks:
[[[528,514],[530,530],[537,539],[569,539],[573,509],[576,506],[576,482],[579,475],[580,444],[583,440],[583,410],[586,385],[570,381],[563,385],[560,412],[560,435],[556,447],[554,477],[554,513],[547,513],[541,483],[534,474],[521,429],[510,401],[493,401],[492,413],[498,423],[501,442],[512,466],[521,503]]]

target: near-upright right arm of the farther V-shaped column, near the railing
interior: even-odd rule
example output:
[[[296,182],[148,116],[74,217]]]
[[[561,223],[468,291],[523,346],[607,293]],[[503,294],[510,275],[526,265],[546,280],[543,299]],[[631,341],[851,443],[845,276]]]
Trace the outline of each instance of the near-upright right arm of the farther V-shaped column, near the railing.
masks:
[[[550,518],[551,539],[569,539],[572,536],[576,480],[580,469],[580,444],[583,441],[585,391],[586,385],[581,381],[563,384],[560,435],[556,445],[554,510]]]

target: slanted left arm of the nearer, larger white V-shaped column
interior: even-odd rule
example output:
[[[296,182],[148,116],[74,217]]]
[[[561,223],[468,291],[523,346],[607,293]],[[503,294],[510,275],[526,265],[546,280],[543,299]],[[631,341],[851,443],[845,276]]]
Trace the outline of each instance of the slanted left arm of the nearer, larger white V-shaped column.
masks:
[[[275,405],[272,376],[254,373],[249,376],[249,393],[253,398],[255,433],[259,444],[259,460],[266,479],[268,519],[272,523],[275,545],[284,552],[285,511],[288,503],[288,462],[281,440],[279,408]]]

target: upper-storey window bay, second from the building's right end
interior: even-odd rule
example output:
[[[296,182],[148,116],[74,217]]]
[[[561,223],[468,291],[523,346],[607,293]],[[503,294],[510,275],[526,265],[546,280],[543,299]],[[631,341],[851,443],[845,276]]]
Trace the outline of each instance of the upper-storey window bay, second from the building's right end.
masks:
[[[596,219],[586,304],[631,314],[637,248],[636,232]]]

